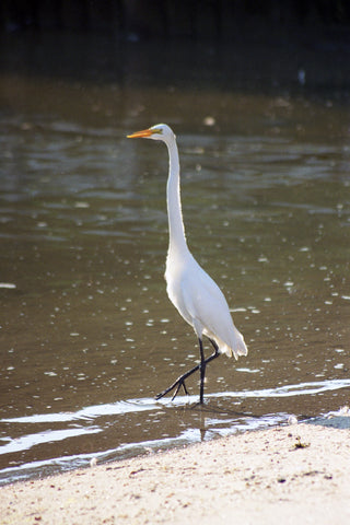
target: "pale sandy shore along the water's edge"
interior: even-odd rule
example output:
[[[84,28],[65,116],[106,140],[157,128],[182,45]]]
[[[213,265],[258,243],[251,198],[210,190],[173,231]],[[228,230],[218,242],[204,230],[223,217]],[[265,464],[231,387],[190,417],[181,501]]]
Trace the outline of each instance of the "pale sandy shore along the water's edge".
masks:
[[[0,523],[349,524],[343,427],[291,424],[7,486]]]

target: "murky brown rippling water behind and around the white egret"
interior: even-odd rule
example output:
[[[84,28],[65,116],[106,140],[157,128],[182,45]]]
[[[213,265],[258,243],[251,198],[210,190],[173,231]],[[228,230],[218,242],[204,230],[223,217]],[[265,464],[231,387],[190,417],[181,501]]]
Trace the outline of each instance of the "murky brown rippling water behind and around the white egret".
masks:
[[[302,54],[299,85],[285,49],[279,68],[174,46],[155,67],[151,45],[70,38],[2,42],[0,482],[349,404],[339,54]],[[197,378],[154,400],[198,360],[163,279],[166,150],[125,138],[158,121],[178,135],[189,246],[249,348],[208,366],[202,408]]]

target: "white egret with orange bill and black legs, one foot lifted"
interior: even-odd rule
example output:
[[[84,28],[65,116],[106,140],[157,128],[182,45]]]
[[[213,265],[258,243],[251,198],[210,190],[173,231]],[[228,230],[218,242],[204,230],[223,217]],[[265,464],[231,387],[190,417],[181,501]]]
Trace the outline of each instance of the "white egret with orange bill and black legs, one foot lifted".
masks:
[[[200,362],[182,374],[163,392],[155,396],[161,399],[174,390],[172,400],[183,386],[188,390],[185,380],[200,372],[199,404],[203,404],[206,368],[220,354],[234,357],[247,355],[248,350],[243,335],[235,327],[224,294],[213,279],[201,268],[187,246],[180,201],[180,174],[176,136],[166,124],[128,135],[127,138],[153,139],[165,143],[168,152],[168,177],[166,203],[168,218],[168,250],[165,265],[166,291],[170,301],[182,317],[194,328],[198,339]],[[213,347],[213,353],[207,359],[203,351],[203,336]]]

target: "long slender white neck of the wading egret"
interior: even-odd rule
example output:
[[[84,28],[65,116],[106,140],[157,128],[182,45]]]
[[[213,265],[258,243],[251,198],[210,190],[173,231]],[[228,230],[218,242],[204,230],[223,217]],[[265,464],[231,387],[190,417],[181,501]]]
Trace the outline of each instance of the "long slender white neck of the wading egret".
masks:
[[[168,150],[168,178],[166,186],[166,202],[168,218],[168,249],[187,250],[185,228],[182,213],[182,202],[179,194],[179,162],[178,151],[175,140],[167,144]]]

